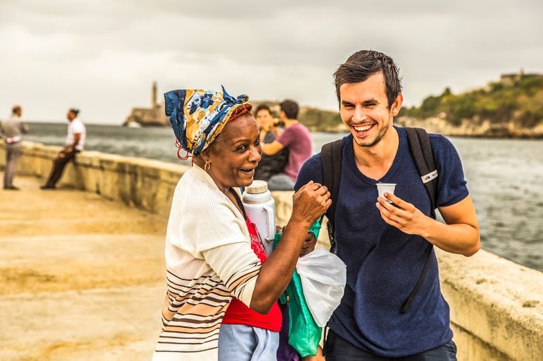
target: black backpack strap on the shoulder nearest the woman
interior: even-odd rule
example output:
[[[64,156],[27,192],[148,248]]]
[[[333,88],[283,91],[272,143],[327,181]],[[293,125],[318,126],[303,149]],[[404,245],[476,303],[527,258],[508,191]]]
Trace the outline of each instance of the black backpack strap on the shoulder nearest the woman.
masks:
[[[332,204],[326,211],[328,218],[328,235],[330,237],[330,251],[335,253],[335,240],[333,237],[335,206],[338,202],[338,194],[340,193],[341,180],[341,159],[343,151],[343,139],[338,139],[335,142],[326,143],[320,150],[320,159],[322,164],[322,184],[328,188],[330,192]],[[322,222],[322,219],[321,219]]]

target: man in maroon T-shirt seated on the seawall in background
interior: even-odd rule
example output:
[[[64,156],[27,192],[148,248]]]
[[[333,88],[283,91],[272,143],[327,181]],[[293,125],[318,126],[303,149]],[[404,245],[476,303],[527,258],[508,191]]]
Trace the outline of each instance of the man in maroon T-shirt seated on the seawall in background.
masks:
[[[268,179],[270,191],[292,191],[298,171],[302,164],[313,154],[313,141],[309,130],[298,121],[298,106],[296,101],[287,99],[279,104],[281,111],[279,119],[284,122],[285,130],[271,143],[263,143],[263,155],[275,155],[283,148],[288,148],[288,163],[282,173],[273,175]],[[260,139],[264,139],[266,130],[260,132]]]

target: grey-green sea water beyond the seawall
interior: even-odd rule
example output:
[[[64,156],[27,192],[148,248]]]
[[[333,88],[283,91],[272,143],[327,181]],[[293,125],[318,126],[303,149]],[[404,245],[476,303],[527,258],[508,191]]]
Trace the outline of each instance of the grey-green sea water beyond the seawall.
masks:
[[[66,124],[30,123],[26,139],[64,145]],[[345,134],[313,133],[313,153]],[[482,248],[543,271],[543,141],[449,138],[462,159]],[[87,125],[85,148],[189,164],[177,158],[170,128]]]

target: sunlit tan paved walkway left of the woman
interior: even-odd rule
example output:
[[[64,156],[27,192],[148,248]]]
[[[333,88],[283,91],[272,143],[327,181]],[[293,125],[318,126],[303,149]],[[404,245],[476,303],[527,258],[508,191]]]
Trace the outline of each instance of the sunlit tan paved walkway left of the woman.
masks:
[[[149,360],[167,219],[41,191],[31,177],[15,184],[0,188],[0,360]]]

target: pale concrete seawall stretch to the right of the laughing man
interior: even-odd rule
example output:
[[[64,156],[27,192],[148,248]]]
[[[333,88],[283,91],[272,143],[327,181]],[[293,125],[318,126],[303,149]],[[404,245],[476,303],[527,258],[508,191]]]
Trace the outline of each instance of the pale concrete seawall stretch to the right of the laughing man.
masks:
[[[441,286],[465,360],[543,360],[543,273],[484,250],[439,252]],[[457,331],[456,329],[454,331]],[[480,353],[477,340],[493,347]],[[492,351],[492,352],[490,352]]]

